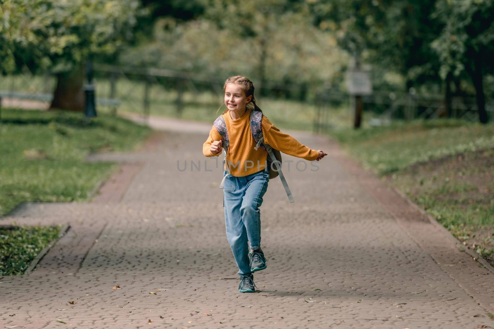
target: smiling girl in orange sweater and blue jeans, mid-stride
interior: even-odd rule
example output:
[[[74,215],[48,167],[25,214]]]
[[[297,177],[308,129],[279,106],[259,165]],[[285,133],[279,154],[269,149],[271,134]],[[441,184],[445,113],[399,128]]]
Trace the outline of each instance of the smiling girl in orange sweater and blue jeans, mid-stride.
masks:
[[[223,174],[226,176],[223,185],[226,237],[239,267],[239,291],[255,292],[252,273],[266,268],[266,257],[260,245],[259,207],[268,187],[268,152],[263,148],[254,149],[256,142],[250,129],[250,112],[261,112],[261,109],[255,104],[252,82],[244,76],[232,76],[226,79],[223,90],[227,109],[222,116],[229,137]],[[261,125],[264,142],[283,153],[309,161],[319,161],[328,155],[282,133],[264,115]],[[221,135],[213,125],[203,145],[204,155],[218,156],[222,143]]]

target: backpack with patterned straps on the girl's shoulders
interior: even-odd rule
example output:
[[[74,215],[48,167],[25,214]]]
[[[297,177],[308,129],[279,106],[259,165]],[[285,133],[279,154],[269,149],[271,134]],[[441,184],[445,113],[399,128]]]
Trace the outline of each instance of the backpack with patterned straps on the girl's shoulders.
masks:
[[[280,151],[264,143],[264,137],[262,136],[262,112],[251,110],[249,121],[250,121],[250,131],[252,132],[252,136],[254,137],[254,140],[257,143],[254,149],[257,150],[259,147],[261,147],[268,152],[268,157],[266,159],[266,162],[269,168],[269,179],[271,180],[273,178],[276,178],[278,175],[280,175],[280,179],[281,182],[283,183],[283,187],[285,187],[285,191],[287,192],[288,200],[290,201],[290,203],[294,202],[290,188],[288,187],[287,180],[285,179],[285,176],[281,171],[282,158]],[[226,129],[226,123],[225,123],[225,119],[223,118],[223,114],[221,114],[220,116],[218,116],[216,120],[214,120],[213,125],[214,127],[216,127],[216,130],[221,135],[221,141],[223,142],[222,143],[223,154],[225,155],[225,158],[223,159],[223,164],[225,163],[227,164],[225,166],[226,171],[228,175],[231,176],[230,168],[226,160],[228,146],[230,146],[230,140],[228,137],[228,130]],[[225,178],[226,175],[223,176],[223,180],[221,181],[219,188],[223,188],[223,184],[225,183]]]

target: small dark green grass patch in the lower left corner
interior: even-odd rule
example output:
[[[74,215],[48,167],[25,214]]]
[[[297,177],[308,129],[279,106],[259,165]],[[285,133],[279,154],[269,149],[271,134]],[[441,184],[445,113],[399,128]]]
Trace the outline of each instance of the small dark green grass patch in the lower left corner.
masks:
[[[0,228],[0,275],[20,275],[56,240],[60,226]]]

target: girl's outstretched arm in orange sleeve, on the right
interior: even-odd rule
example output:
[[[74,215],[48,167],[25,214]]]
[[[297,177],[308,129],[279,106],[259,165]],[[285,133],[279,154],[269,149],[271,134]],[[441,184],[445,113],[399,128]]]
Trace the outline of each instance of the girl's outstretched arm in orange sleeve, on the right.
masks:
[[[262,116],[262,135],[264,136],[264,142],[266,142],[266,144],[269,144],[283,153],[303,158],[308,161],[314,161],[319,157],[319,151],[310,149],[290,135],[282,133],[280,129],[276,128],[264,115]]]

